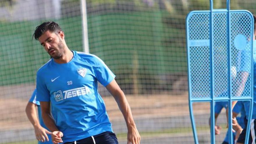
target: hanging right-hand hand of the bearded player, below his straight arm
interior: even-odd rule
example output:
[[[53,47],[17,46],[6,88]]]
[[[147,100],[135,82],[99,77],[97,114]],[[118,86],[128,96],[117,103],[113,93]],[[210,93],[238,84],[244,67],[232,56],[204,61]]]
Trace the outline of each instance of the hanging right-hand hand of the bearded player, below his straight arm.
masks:
[[[127,133],[127,144],[140,144],[141,136],[137,128],[128,129]]]

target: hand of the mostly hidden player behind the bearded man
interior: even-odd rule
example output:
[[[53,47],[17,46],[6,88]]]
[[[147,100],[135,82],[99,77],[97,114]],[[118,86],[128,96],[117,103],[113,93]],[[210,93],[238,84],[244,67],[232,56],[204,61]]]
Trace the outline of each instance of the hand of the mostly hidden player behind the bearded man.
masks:
[[[49,141],[47,134],[51,134],[50,131],[43,128],[42,126],[35,126],[34,130],[35,130],[35,137],[38,141],[41,141],[41,142]]]

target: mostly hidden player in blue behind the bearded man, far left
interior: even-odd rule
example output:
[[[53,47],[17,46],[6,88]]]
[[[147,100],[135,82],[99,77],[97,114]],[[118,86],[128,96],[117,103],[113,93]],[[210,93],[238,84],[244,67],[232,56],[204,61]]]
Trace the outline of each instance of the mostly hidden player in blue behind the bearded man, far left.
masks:
[[[36,101],[35,98],[36,89],[33,91],[33,94],[31,95],[31,98],[29,99],[29,102],[26,106],[27,117],[34,127],[35,137],[38,140],[38,144],[52,144],[50,135],[51,132],[47,129],[42,120],[40,103],[39,101]],[[38,117],[36,113],[36,107],[38,107]]]

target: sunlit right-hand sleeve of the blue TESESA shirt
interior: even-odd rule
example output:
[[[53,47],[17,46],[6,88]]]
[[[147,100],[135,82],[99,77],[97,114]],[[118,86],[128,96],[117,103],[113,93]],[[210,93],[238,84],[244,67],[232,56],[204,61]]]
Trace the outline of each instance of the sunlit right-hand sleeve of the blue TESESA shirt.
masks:
[[[115,79],[115,74],[100,58],[97,56],[95,57],[95,61],[97,61],[97,66],[94,70],[95,76],[103,86],[107,86],[113,79]]]

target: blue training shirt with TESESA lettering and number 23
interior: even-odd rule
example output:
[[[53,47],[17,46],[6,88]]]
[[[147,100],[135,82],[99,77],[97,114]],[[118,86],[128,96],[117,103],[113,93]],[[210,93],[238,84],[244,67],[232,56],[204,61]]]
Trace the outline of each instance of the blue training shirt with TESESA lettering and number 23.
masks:
[[[107,86],[115,75],[93,54],[72,51],[68,63],[51,58],[37,72],[38,101],[51,102],[63,143],[77,141],[105,131],[113,132],[97,81]]]

